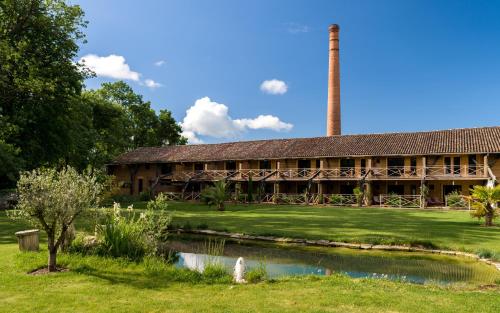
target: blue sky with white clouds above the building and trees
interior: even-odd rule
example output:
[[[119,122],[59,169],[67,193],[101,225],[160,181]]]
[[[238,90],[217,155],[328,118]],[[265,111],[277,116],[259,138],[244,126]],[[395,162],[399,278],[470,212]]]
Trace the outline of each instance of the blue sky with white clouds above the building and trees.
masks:
[[[74,2],[87,86],[127,77],[191,142],[323,136],[332,23],[343,134],[500,125],[500,1]]]

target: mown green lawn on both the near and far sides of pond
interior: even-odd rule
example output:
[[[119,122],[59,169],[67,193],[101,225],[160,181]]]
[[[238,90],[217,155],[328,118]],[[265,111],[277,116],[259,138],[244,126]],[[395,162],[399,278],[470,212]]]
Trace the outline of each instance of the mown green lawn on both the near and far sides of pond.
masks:
[[[469,235],[479,236],[482,232],[483,239],[488,241],[481,244],[498,250],[495,240],[489,239],[496,236],[498,242],[498,229],[484,230],[462,212],[374,209],[364,213],[358,209],[253,206],[230,207],[227,212],[218,213],[203,206],[180,204],[172,204],[171,209],[175,209],[177,222],[189,219],[193,226],[207,223],[211,228],[311,238],[362,239],[370,234],[392,236],[400,231],[402,238],[416,238],[419,232],[446,234],[446,229],[456,231],[463,227]],[[314,216],[314,212],[319,217]],[[417,217],[413,223],[410,223],[411,216]],[[454,222],[454,218],[458,220]],[[425,220],[435,227],[424,227]],[[390,227],[389,223],[395,224]],[[406,223],[414,230],[417,225],[422,228],[413,233],[402,231]],[[438,230],[439,225],[446,227]],[[413,285],[344,276],[305,277],[253,285],[206,284],[193,282],[186,278],[189,275],[179,275],[174,269],[152,271],[144,263],[78,255],[60,256],[60,264],[68,267],[69,272],[31,276],[26,272],[43,266],[46,252],[17,251],[13,233],[25,228],[26,225],[11,222],[0,212],[0,312],[500,311],[498,285]],[[337,232],[343,230],[346,233],[337,236]],[[444,242],[452,238],[460,236],[448,235]],[[469,247],[476,248],[472,241]]]

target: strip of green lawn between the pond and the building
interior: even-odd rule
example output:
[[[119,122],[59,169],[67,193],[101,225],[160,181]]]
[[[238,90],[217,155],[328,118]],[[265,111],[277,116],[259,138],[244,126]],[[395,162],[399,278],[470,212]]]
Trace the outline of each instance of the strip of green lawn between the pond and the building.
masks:
[[[135,207],[143,207],[136,203]],[[485,228],[467,211],[229,205],[225,212],[200,204],[171,202],[174,224],[196,228],[346,242],[424,243],[500,258],[500,227]],[[500,220],[499,220],[500,223]]]

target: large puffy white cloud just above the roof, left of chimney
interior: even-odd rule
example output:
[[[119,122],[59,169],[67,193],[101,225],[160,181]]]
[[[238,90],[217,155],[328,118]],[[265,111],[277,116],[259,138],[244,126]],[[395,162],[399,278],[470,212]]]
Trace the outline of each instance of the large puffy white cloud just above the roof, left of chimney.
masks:
[[[182,135],[189,143],[202,143],[198,136],[214,138],[234,138],[248,129],[270,129],[274,131],[289,131],[292,124],[282,122],[272,115],[259,115],[257,118],[232,119],[229,108],[221,103],[204,97],[196,100],[186,111],[184,120],[180,123]]]

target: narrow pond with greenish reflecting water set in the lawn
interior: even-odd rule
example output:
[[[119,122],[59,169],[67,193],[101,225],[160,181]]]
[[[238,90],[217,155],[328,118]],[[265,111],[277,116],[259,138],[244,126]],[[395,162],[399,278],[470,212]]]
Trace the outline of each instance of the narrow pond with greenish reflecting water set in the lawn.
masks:
[[[223,249],[208,247],[222,241]],[[174,253],[175,265],[203,271],[211,263],[229,272],[238,257],[247,270],[264,265],[270,278],[293,275],[342,273],[353,278],[403,280],[412,283],[493,283],[498,271],[474,259],[417,252],[386,252],[345,248],[311,247],[298,244],[270,244],[255,241],[207,239],[206,236],[177,236],[165,243]],[[216,254],[216,255],[214,255]]]

